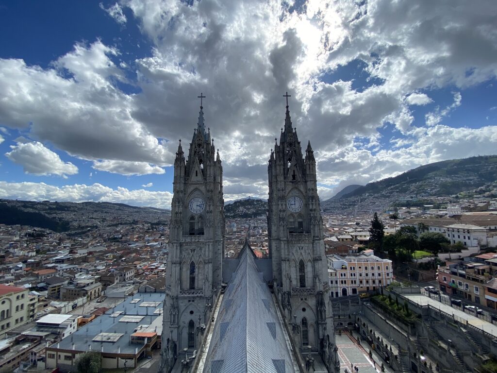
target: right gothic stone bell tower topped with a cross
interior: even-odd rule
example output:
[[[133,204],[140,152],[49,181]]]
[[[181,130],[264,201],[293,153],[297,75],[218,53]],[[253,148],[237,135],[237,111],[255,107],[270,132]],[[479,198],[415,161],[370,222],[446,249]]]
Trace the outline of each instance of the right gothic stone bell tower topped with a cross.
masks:
[[[292,335],[302,351],[319,351],[330,372],[339,371],[323,219],[310,141],[305,158],[292,127],[288,97],[285,125],[275,138],[268,165],[268,239],[273,281]]]

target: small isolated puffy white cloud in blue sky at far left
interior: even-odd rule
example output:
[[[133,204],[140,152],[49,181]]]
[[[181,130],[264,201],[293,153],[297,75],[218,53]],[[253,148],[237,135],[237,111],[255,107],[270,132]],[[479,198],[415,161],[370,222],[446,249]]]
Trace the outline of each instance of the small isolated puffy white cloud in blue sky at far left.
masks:
[[[71,162],[64,162],[59,155],[43,146],[40,142],[17,143],[10,146],[5,156],[12,162],[21,165],[24,172],[34,175],[76,175],[78,167]]]

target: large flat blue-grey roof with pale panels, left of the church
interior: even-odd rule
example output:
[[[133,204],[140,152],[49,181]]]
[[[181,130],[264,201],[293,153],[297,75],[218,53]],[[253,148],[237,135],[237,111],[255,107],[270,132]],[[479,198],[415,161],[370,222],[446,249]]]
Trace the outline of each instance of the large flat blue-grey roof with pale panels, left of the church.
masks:
[[[154,322],[157,317],[162,317],[161,315],[155,314],[156,308],[162,308],[165,293],[136,293],[130,296],[124,302],[118,304],[112,309],[109,309],[105,314],[97,317],[92,322],[84,325],[81,329],[73,333],[72,335],[64,338],[60,344],[60,349],[72,350],[73,344],[74,349],[77,351],[88,351],[89,346],[91,346],[92,351],[103,351],[117,353],[120,349],[121,354],[134,354],[135,349],[142,347],[139,344],[130,343],[131,334],[134,333],[134,329],[139,325],[150,325]],[[142,300],[138,303],[130,303],[131,300],[141,298]],[[140,303],[148,302],[161,302],[157,307],[140,307]],[[123,311],[118,317],[111,317],[110,315],[117,311]],[[119,322],[119,320],[124,316],[129,315],[143,315],[144,318],[140,322]],[[159,330],[158,330],[159,332]],[[94,342],[93,338],[99,333],[122,333],[124,334],[116,342]],[[54,346],[57,346],[54,345]],[[51,346],[51,347],[54,347]]]

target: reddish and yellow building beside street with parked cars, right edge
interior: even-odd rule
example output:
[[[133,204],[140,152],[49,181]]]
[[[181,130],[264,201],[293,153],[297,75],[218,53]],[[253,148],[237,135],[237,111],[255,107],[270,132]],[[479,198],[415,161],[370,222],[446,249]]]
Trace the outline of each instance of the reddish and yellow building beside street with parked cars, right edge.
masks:
[[[487,305],[484,285],[492,279],[490,270],[490,266],[481,263],[447,262],[447,266],[438,267],[437,279],[440,290]]]

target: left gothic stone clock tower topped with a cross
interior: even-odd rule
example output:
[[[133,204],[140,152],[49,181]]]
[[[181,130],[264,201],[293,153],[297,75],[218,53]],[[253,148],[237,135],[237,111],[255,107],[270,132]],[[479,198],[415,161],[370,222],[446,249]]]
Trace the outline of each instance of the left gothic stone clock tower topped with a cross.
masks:
[[[198,350],[222,282],[223,168],[210,130],[205,130],[202,101],[189,147],[185,160],[180,140],[174,160],[159,369],[166,373],[185,348],[190,354]]]

